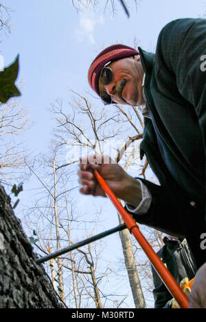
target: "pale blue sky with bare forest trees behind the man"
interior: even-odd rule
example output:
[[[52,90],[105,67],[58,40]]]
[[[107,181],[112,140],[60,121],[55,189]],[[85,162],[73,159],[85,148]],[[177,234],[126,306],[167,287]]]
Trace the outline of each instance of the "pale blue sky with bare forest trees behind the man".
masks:
[[[154,52],[166,23],[205,16],[205,3],[124,3],[129,16],[118,0],[1,1],[0,69],[19,54],[21,97],[0,106],[0,180],[39,256],[120,222],[110,201],[80,195],[80,156],[106,153],[130,175],[158,184],[146,159],[139,160],[141,109],[104,107],[87,71],[95,55],[115,43]],[[16,196],[14,184],[21,191]],[[140,228],[157,251],[163,234]],[[44,266],[69,308],[154,307],[150,263],[126,231]]]

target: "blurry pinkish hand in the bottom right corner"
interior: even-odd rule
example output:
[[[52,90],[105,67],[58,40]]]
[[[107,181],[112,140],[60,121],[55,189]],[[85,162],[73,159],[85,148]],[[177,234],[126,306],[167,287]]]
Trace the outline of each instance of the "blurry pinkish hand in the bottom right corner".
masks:
[[[206,263],[198,269],[188,299],[189,308],[206,308]]]

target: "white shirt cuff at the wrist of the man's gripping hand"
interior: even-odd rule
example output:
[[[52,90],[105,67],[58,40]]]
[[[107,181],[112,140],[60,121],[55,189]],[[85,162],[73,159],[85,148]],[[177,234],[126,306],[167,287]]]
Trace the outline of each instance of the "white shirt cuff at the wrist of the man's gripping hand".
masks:
[[[146,214],[152,202],[152,195],[150,194],[148,187],[141,180],[138,180],[138,181],[141,185],[141,197],[142,197],[141,202],[136,208],[126,203],[126,208],[128,209],[129,212],[133,212],[133,214]]]

